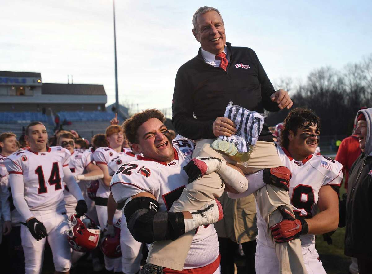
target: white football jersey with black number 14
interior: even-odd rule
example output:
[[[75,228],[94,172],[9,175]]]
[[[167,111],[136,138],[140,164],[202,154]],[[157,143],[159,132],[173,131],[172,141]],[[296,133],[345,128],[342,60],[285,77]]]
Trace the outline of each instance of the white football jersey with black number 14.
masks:
[[[31,211],[64,207],[63,167],[69,162],[70,152],[61,146],[48,147],[45,152],[18,151],[4,161],[9,173],[23,175],[25,200]]]

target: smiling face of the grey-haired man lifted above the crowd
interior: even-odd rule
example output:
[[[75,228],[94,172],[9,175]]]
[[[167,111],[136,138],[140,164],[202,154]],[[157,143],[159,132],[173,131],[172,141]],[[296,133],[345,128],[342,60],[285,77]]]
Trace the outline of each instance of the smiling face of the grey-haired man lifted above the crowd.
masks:
[[[205,51],[213,54],[224,51],[225,26],[221,16],[214,10],[198,15],[195,30],[193,29],[192,33]]]

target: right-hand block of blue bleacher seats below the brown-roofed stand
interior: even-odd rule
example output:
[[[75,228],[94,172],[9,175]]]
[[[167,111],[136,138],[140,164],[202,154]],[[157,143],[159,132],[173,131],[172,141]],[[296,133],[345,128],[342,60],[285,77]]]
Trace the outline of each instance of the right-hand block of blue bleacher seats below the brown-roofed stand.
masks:
[[[113,118],[112,112],[105,111],[60,111],[60,122],[67,121],[109,121]]]

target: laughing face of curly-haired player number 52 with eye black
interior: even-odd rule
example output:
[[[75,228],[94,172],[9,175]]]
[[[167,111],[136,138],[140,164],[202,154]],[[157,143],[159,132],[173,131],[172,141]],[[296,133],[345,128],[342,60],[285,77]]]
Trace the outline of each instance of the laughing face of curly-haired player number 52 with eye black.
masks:
[[[157,118],[144,122],[137,130],[138,144],[132,144],[135,151],[144,157],[162,162],[174,159],[173,145],[166,126]]]

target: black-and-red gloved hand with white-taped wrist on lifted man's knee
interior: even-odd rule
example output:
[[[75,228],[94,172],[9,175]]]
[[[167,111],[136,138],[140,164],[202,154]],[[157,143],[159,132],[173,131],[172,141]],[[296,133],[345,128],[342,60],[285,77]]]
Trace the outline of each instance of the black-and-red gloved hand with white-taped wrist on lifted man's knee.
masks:
[[[189,183],[192,183],[203,175],[210,174],[221,167],[221,159],[214,157],[196,157],[183,167],[189,175]]]

